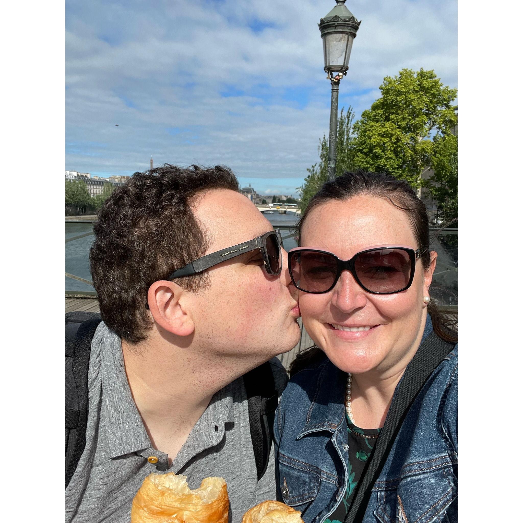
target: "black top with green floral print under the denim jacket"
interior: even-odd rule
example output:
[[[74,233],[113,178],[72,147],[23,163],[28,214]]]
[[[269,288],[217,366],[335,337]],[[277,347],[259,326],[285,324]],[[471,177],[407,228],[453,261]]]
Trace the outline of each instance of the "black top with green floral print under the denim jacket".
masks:
[[[343,523],[349,510],[354,490],[365,468],[365,462],[369,459],[374,444],[380,434],[379,428],[362,429],[354,425],[346,415],[347,436],[349,445],[349,462],[347,463],[347,490],[340,504],[336,507],[330,518],[324,523]]]

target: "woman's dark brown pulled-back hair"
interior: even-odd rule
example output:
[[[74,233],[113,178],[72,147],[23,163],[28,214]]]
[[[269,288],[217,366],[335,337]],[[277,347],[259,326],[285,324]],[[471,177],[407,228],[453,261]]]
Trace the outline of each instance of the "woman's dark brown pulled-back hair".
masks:
[[[323,184],[322,188],[311,198],[298,221],[298,244],[301,245],[303,225],[312,209],[331,200],[349,200],[360,195],[385,198],[394,207],[407,213],[418,248],[423,253],[421,257],[423,267],[427,270],[430,266],[430,238],[425,204],[416,196],[406,181],[398,180],[385,173],[368,173],[358,170],[355,173],[344,173]],[[432,299],[427,305],[427,311],[436,334],[448,342],[456,343],[457,336],[453,328],[456,325],[456,318],[438,310]],[[323,351],[318,347],[312,347],[299,354],[292,362],[291,376],[321,358],[323,358]]]

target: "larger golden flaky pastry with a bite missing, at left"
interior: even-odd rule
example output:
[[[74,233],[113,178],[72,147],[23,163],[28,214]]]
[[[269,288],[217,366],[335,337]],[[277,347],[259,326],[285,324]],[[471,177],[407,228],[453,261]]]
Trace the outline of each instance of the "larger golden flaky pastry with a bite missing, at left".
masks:
[[[221,477],[191,491],[187,476],[149,474],[134,496],[131,523],[227,523],[229,495]]]

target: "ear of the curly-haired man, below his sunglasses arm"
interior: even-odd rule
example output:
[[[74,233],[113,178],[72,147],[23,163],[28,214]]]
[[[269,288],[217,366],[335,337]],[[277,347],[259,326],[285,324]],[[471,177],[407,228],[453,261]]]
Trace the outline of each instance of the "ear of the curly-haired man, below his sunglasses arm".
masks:
[[[186,290],[167,280],[155,281],[147,292],[154,321],[176,336],[189,336],[195,329],[186,298]]]

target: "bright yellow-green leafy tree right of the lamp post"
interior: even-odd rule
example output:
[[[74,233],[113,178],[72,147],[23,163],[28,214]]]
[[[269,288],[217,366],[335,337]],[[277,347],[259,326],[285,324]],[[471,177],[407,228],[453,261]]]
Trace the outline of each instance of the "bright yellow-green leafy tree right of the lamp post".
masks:
[[[386,76],[380,90],[381,98],[354,124],[354,164],[420,190],[422,174],[437,154],[435,142],[457,124],[452,106],[457,89],[444,86],[434,71],[402,69]]]

